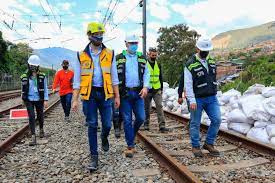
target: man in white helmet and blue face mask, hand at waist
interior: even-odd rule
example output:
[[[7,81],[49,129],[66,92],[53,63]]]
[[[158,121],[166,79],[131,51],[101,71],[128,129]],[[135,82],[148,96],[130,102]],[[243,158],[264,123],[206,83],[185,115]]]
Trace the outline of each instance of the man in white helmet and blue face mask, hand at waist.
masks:
[[[147,61],[142,53],[137,52],[138,37],[130,35],[125,40],[127,50],[116,56],[121,95],[121,112],[127,143],[126,157],[133,157],[135,136],[145,121],[144,98],[150,87],[150,73]],[[132,112],[135,122],[132,123]]]

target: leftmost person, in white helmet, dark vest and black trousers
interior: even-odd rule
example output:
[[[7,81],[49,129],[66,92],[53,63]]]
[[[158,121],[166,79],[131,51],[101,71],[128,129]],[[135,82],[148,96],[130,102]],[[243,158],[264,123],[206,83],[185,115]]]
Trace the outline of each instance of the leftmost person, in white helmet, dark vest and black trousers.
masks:
[[[39,137],[44,137],[44,107],[47,107],[49,100],[46,75],[39,70],[40,58],[37,55],[31,55],[28,59],[28,70],[21,75],[22,100],[27,107],[29,115],[29,126],[31,130],[30,146],[36,145],[35,136],[35,111],[39,121]]]

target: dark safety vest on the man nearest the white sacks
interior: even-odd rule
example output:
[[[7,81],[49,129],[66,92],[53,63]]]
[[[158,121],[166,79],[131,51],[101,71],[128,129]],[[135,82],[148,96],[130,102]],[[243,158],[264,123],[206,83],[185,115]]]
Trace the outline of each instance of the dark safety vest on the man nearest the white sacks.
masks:
[[[217,94],[216,64],[210,57],[206,58],[208,71],[201,64],[199,58],[193,55],[186,63],[193,78],[193,90],[196,98]]]

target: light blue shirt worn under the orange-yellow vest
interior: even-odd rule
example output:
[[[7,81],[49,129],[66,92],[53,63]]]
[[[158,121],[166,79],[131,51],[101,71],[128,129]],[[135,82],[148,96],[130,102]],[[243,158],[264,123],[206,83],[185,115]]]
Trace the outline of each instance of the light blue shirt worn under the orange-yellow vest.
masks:
[[[93,86],[96,87],[102,87],[103,86],[103,77],[102,77],[102,70],[100,67],[100,53],[101,48],[99,49],[98,53],[93,53],[91,48],[89,47],[90,56],[92,57],[93,64],[94,64],[94,70],[93,70]],[[81,67],[80,62],[78,60],[73,62],[73,68],[74,68],[74,83],[73,88],[74,89],[80,89],[80,78],[81,78]],[[116,59],[115,56],[113,57],[112,66],[111,66],[111,76],[112,76],[112,84],[118,85],[118,75],[117,75],[117,67],[116,67]]]

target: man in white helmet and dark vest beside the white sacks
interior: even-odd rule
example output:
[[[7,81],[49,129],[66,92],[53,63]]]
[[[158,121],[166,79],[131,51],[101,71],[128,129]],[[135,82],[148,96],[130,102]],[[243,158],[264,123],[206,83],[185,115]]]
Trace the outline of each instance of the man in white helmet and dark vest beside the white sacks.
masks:
[[[200,37],[196,43],[197,53],[187,61],[184,68],[184,88],[190,103],[190,137],[192,151],[196,157],[202,157],[200,149],[200,124],[204,110],[211,120],[203,148],[210,155],[219,156],[214,143],[221,123],[221,112],[216,97],[216,64],[209,56],[213,49],[209,38]]]

